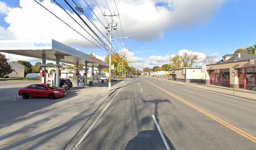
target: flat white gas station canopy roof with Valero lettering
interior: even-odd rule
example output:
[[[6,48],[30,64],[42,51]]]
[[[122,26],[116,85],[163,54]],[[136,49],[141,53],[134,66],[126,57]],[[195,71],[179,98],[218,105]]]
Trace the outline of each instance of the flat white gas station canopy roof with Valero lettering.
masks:
[[[92,65],[100,68],[109,67],[109,64],[104,61],[53,39],[1,40],[0,52],[39,59],[43,59],[43,55],[45,55],[46,60],[49,61],[56,61],[56,56],[59,56],[61,63],[78,63],[83,66],[88,63],[88,67],[92,67]]]

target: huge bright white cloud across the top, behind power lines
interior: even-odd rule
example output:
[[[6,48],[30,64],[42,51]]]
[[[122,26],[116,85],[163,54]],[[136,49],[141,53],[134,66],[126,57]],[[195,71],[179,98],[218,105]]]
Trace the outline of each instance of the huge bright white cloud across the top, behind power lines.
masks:
[[[120,12],[124,36],[129,35],[133,39],[149,41],[163,37],[164,32],[169,29],[176,27],[190,28],[208,21],[213,13],[221,7],[223,1],[225,0],[120,0],[116,2]],[[114,1],[107,2],[112,12],[117,12]],[[163,3],[165,5],[160,5]],[[2,8],[0,10],[6,14],[5,20],[9,24],[8,32],[13,32],[22,39],[53,38],[70,46],[93,46],[77,32],[56,19],[50,12],[41,8],[35,1],[20,0],[19,4],[20,8],[9,8],[4,2],[0,3]],[[90,40],[94,41],[56,4],[50,0],[44,0],[41,4],[77,29],[85,37],[89,37]],[[90,4],[100,20],[105,22],[104,16],[95,1],[88,1],[88,4]],[[105,1],[99,1],[99,5],[102,11],[109,12]],[[82,6],[86,5],[82,4]],[[82,23],[74,13],[70,11],[68,13]],[[85,18],[83,15],[82,17]],[[117,29],[120,33],[120,23],[117,18],[115,17],[115,21],[118,23]],[[92,20],[103,33],[107,32],[95,16],[93,16]],[[90,26],[92,27],[92,24]],[[95,28],[93,29],[96,31]],[[90,33],[92,34],[92,32]],[[12,37],[8,36],[6,38],[11,39]]]

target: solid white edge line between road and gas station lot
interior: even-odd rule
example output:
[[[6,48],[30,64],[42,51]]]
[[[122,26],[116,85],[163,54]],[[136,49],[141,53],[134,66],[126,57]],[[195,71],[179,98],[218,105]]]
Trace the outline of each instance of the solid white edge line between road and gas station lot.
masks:
[[[126,83],[125,83],[126,84]],[[124,86],[125,86],[124,84]],[[124,86],[122,86],[122,88],[124,88]],[[121,88],[121,89],[122,89]],[[117,92],[117,94],[121,91],[121,89],[119,89],[119,91]],[[115,94],[115,96],[117,96],[117,94]],[[111,101],[109,102],[109,104],[107,104],[107,106],[104,108],[104,110],[102,111],[102,113],[100,113],[100,115],[95,119],[95,121],[93,122],[93,124],[90,126],[90,128],[87,129],[87,131],[85,132],[85,134],[83,134],[82,138],[78,141],[78,143],[75,145],[75,147],[72,150],[77,150],[78,146],[83,142],[83,140],[87,137],[88,133],[90,132],[90,130],[93,128],[93,126],[97,123],[97,121],[100,119],[100,117],[102,116],[102,114],[105,112],[105,110],[109,107],[110,103],[115,99],[114,98],[111,99]]]

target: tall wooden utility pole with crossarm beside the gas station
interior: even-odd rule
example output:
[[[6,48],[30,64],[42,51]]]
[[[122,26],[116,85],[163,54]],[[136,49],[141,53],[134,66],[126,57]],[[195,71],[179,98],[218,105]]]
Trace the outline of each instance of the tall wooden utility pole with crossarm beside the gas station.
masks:
[[[103,16],[110,17],[111,21],[109,23],[105,24],[105,28],[108,29],[109,31],[109,91],[111,90],[111,78],[112,78],[112,73],[111,73],[111,54],[112,54],[112,29],[116,30],[117,29],[117,23],[114,22],[113,17],[114,16],[119,16],[118,14],[103,14]]]

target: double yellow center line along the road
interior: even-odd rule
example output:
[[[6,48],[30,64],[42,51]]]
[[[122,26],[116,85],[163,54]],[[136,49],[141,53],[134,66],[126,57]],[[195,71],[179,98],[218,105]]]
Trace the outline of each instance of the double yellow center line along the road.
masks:
[[[146,79],[145,79],[146,80]],[[147,80],[146,80],[147,81]],[[197,111],[199,111],[200,113],[203,113],[205,114],[206,116],[208,116],[209,118],[217,121],[218,123],[222,124],[223,126],[226,126],[227,128],[229,129],[232,129],[233,131],[235,131],[236,133],[240,134],[241,136],[243,136],[244,138],[247,138],[249,139],[250,141],[252,141],[253,143],[256,143],[256,138],[248,133],[246,133],[245,131],[241,130],[241,129],[238,129],[236,128],[235,126],[232,126],[231,124],[221,120],[220,118],[217,118],[216,116],[213,116],[212,114],[210,113],[207,113],[206,111],[204,111],[203,109],[200,109],[196,106],[194,106],[193,104],[191,103],[188,103],[187,101],[185,101],[184,99],[181,99],[179,98],[178,96],[174,95],[173,93],[170,93],[169,91],[166,91],[165,89],[163,88],[160,88],[159,86],[156,86],[156,84],[153,84],[151,83],[150,81],[147,81],[148,83],[152,84],[153,86],[155,86],[156,88],[158,89],[161,89],[161,91],[164,91],[165,93],[169,94],[170,96],[172,96],[173,98],[175,99],[178,99],[179,101],[187,104],[188,106],[190,106],[191,108],[194,108],[196,109]]]

